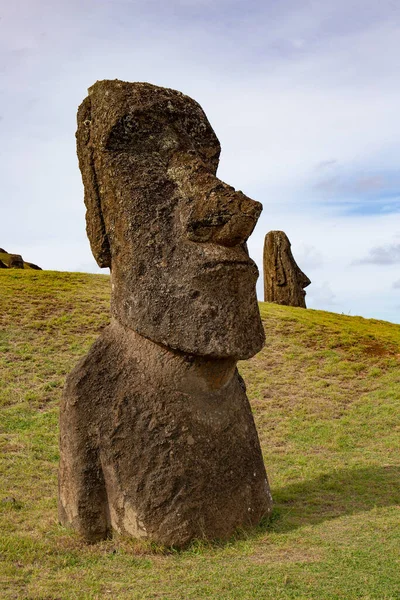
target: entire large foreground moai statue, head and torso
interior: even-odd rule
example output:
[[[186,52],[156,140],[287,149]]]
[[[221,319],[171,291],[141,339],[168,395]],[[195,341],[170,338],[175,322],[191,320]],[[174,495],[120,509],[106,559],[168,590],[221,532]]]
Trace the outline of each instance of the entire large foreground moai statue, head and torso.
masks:
[[[227,538],[272,506],[236,368],[264,343],[246,248],[261,205],[217,179],[218,139],[174,90],[97,82],[77,147],[112,320],[64,389],[60,521],[91,542]]]

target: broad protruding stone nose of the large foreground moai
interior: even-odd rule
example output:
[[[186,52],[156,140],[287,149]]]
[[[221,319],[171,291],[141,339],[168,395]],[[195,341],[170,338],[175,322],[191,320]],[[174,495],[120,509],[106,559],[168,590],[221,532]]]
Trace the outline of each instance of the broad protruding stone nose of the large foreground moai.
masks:
[[[189,209],[187,236],[194,242],[237,246],[246,242],[262,211],[260,202],[214,179]]]

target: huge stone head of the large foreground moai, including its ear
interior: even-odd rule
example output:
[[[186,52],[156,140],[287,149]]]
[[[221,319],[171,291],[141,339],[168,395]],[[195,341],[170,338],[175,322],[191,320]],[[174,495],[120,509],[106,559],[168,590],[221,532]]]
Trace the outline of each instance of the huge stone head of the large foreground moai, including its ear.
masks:
[[[201,107],[148,83],[99,81],[78,111],[87,233],[114,317],[190,354],[244,359],[264,342],[246,240],[261,204],[216,177]]]

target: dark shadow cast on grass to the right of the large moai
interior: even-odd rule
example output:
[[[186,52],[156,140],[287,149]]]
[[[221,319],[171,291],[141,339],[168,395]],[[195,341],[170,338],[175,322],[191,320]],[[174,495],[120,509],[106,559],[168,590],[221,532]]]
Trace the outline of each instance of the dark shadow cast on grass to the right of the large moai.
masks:
[[[273,489],[274,510],[263,529],[285,533],[305,525],[400,504],[400,467],[341,469]]]

